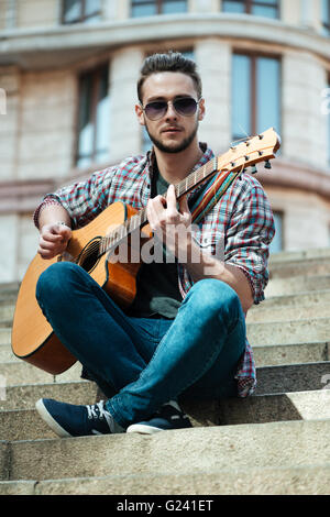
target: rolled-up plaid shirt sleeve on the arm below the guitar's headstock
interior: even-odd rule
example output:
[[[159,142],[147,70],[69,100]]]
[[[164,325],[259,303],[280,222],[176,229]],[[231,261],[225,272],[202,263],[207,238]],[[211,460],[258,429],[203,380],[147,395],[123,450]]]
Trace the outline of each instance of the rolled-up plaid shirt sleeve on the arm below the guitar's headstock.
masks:
[[[275,234],[273,211],[260,184],[245,185],[227,228],[224,261],[239,267],[250,282],[254,304],[265,299],[268,246]]]

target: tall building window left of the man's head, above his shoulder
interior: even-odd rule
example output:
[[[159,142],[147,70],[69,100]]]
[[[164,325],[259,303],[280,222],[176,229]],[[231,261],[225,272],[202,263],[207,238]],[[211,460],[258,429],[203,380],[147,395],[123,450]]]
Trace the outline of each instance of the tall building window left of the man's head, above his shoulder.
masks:
[[[110,97],[108,65],[79,78],[79,114],[76,164],[88,167],[105,163],[110,146]]]

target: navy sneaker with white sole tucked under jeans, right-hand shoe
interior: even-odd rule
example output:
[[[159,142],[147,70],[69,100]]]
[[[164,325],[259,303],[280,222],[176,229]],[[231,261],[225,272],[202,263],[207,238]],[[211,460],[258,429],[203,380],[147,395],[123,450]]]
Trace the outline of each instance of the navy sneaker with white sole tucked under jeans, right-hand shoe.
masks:
[[[145,421],[132,424],[127,432],[140,432],[141,435],[153,435],[158,431],[166,431],[170,429],[184,429],[193,427],[189,418],[179,408],[178,404],[170,400],[164,404],[160,411]]]

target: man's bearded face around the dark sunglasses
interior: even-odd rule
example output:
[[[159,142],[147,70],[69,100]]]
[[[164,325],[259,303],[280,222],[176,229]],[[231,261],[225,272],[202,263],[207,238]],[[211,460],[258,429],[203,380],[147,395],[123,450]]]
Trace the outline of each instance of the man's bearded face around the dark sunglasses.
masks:
[[[145,79],[142,88],[143,107],[158,100],[174,101],[182,97],[191,97],[198,101],[194,80],[178,72],[161,72]],[[146,127],[153,144],[165,153],[179,153],[197,138],[198,122],[204,119],[204,99],[199,101],[196,113],[185,117],[177,113],[169,103],[166,113],[157,120],[150,120],[140,105],[135,111],[139,122]]]

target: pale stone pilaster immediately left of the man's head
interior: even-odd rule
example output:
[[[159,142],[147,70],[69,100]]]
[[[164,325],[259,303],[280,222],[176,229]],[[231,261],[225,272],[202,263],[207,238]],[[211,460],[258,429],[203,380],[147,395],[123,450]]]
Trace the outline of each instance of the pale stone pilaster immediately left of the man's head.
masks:
[[[136,81],[144,54],[140,48],[125,48],[114,54],[110,67],[110,161],[141,153],[141,127],[134,106]]]

